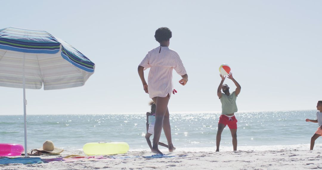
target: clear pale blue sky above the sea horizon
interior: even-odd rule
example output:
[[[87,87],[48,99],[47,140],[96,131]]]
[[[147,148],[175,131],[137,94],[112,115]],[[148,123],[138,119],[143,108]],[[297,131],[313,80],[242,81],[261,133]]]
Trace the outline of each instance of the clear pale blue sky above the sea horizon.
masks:
[[[316,109],[322,100],[322,1],[4,1],[0,28],[45,30],[96,64],[85,86],[26,90],[27,114],[102,114],[150,108],[137,66],[159,46],[187,70],[170,112],[221,111],[218,68],[226,63],[241,84],[240,111]],[[145,71],[147,79],[148,70]],[[235,89],[231,80],[226,79]],[[0,115],[23,114],[23,90],[0,87]]]

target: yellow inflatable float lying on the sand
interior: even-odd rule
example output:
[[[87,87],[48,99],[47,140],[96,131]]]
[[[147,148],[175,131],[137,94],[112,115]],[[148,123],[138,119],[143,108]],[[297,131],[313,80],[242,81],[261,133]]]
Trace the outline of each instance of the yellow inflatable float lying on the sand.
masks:
[[[126,142],[91,142],[83,146],[83,151],[87,155],[115,155],[125,154],[129,146]]]

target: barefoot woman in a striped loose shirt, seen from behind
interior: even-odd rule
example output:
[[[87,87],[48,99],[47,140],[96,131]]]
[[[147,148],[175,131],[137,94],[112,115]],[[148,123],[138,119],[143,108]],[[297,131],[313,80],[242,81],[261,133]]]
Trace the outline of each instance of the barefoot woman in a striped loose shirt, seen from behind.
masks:
[[[154,35],[156,41],[160,43],[159,47],[152,49],[147,53],[143,61],[137,68],[141,78],[143,89],[149,94],[149,97],[156,103],[156,122],[154,125],[153,146],[151,151],[156,154],[162,154],[158,149],[158,143],[161,131],[166,135],[169,152],[175,149],[172,144],[171,127],[169,120],[168,102],[173,90],[172,70],[181,75],[179,83],[185,85],[188,81],[188,75],[185,67],[177,52],[169,49],[172,32],[169,28],[161,27],[156,30]],[[144,70],[150,68],[148,83],[144,78]]]

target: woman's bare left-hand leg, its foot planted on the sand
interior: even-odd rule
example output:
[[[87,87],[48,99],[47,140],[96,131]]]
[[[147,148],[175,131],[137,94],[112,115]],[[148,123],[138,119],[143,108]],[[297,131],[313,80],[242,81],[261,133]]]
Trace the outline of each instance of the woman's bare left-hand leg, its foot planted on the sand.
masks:
[[[155,97],[152,100],[156,103],[156,122],[154,124],[154,137],[153,137],[153,146],[151,152],[155,154],[163,154],[158,148],[163,119],[166,114],[166,110],[169,103],[169,95],[167,97]]]

